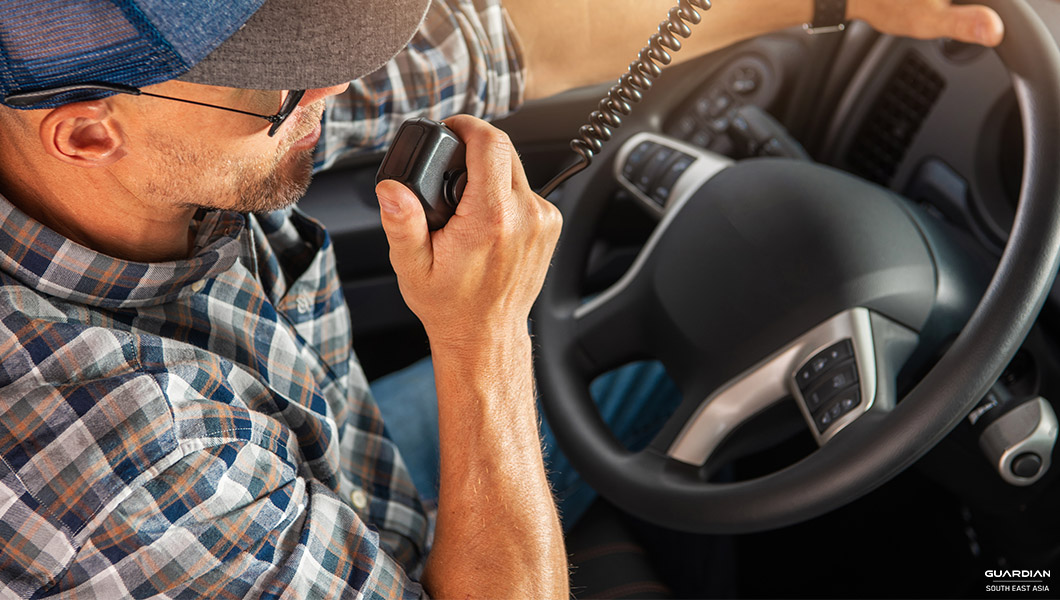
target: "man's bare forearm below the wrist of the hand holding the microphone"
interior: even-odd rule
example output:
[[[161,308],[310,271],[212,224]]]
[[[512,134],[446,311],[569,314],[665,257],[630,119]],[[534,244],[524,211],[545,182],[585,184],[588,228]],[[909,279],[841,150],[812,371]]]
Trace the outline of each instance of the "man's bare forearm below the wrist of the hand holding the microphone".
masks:
[[[566,598],[530,337],[525,323],[494,333],[475,348],[432,348],[441,490],[424,584],[442,598]]]

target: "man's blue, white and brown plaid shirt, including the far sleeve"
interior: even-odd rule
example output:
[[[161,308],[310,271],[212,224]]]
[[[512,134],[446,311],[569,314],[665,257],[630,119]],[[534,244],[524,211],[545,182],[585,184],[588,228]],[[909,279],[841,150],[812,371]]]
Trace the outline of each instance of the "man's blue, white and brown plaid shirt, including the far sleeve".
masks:
[[[335,99],[318,166],[406,117],[497,117],[523,81],[496,0],[436,1]],[[428,517],[328,234],[297,210],[194,228],[190,259],[134,263],[0,198],[0,598],[423,596]]]

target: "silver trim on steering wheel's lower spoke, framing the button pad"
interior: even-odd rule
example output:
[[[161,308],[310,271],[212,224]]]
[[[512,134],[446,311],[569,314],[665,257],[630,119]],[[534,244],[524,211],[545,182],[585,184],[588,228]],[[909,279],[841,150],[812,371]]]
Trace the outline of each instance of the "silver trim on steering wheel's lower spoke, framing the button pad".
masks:
[[[796,385],[796,374],[816,354],[847,339],[852,346],[861,402],[819,431],[813,411]],[[877,356],[867,308],[840,313],[719,388],[700,404],[667,455],[702,465],[739,425],[789,396],[797,400],[820,445],[872,407],[877,396]]]

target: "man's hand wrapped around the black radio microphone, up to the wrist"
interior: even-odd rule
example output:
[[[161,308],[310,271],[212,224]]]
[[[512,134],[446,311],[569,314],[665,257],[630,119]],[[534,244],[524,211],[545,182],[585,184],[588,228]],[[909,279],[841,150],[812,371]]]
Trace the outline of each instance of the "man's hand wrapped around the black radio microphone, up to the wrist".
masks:
[[[471,117],[446,124],[467,146],[467,187],[444,228],[427,230],[404,186],[376,192],[402,295],[431,345],[476,345],[498,328],[526,331],[562,219],[530,189],[502,131]]]

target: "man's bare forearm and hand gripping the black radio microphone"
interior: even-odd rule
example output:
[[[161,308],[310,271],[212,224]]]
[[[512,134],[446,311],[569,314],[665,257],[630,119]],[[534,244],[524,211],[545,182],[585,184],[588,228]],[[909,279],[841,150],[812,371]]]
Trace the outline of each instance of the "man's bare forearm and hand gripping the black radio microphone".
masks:
[[[467,147],[467,187],[444,228],[427,230],[401,183],[376,188],[438,388],[438,524],[423,584],[439,598],[568,598],[527,331],[560,212],[530,189],[507,136],[470,117],[446,123]]]

